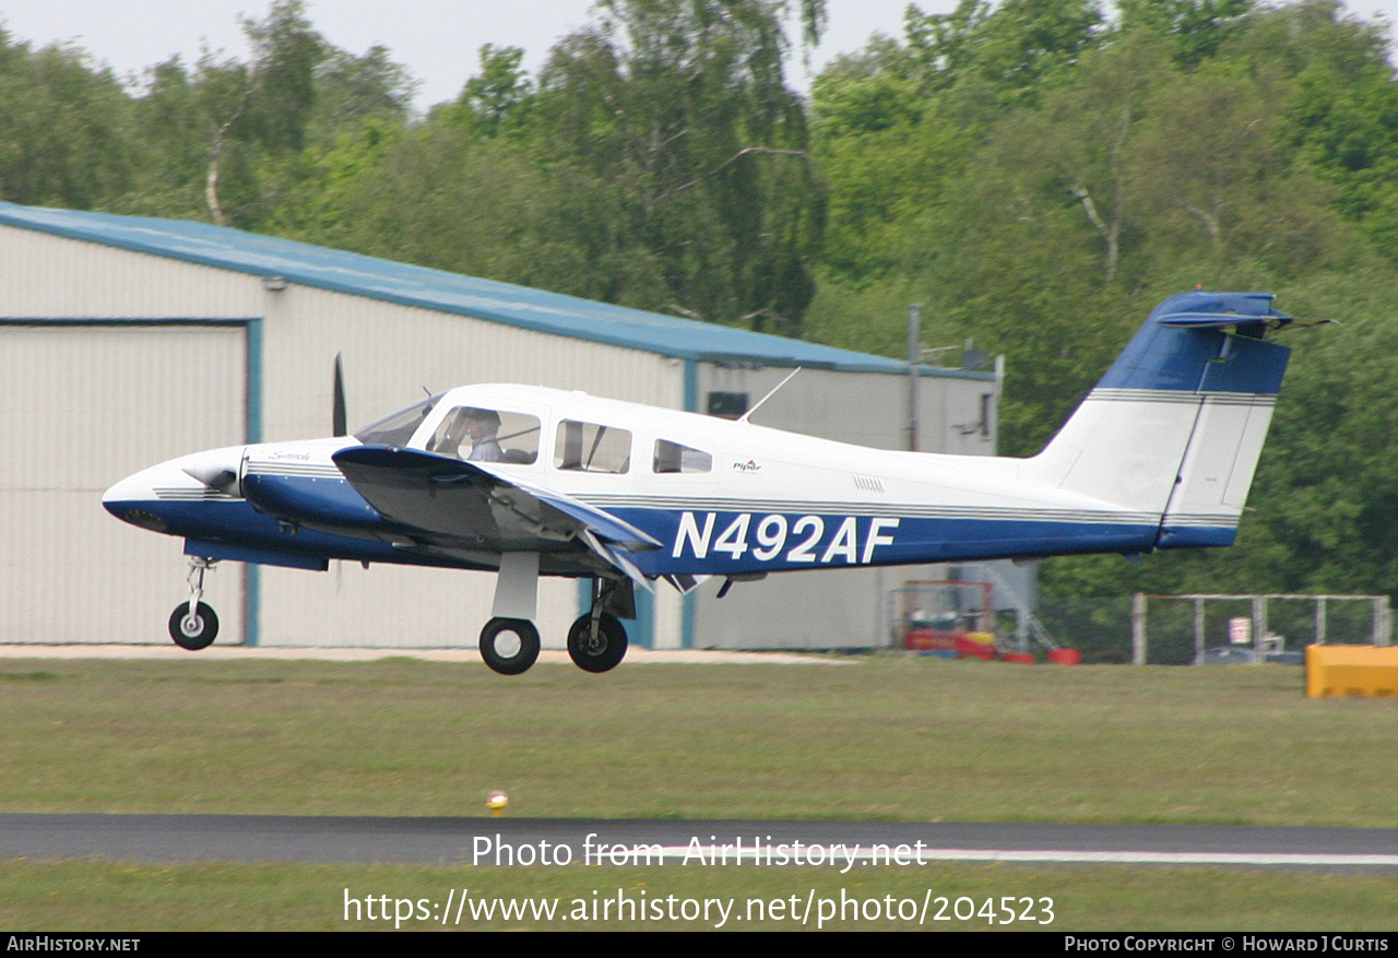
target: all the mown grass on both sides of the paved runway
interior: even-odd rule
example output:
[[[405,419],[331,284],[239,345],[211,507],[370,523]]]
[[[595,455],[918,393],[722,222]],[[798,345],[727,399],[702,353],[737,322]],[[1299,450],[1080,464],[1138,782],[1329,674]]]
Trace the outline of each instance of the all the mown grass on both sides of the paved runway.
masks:
[[[530,817],[1398,825],[1398,702],[1306,699],[1297,669],[850,663],[502,678],[408,659],[10,660],[0,811],[478,815],[505,789],[510,814]],[[842,887],[812,870],[710,874],[632,870],[625,884]],[[347,887],[569,898],[600,881],[622,877],[24,862],[0,866],[0,922],[343,927]],[[1392,927],[1398,915],[1398,880],[1304,873],[938,866],[881,870],[874,891],[959,888],[1054,896],[1055,929]]]

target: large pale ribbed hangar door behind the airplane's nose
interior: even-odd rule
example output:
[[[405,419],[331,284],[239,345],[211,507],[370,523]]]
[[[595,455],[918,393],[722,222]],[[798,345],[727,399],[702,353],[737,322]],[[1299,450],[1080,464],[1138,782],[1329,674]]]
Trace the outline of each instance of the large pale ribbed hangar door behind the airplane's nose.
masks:
[[[246,441],[243,324],[0,324],[0,642],[169,642],[183,540],[119,522],[102,492]],[[243,566],[206,579],[243,634]]]

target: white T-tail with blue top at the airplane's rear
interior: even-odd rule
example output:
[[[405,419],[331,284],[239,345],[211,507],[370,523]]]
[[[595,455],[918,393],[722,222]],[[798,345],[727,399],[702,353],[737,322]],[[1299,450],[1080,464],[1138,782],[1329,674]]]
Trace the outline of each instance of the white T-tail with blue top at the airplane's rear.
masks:
[[[1268,292],[1160,303],[1025,474],[1159,526],[1155,548],[1232,545],[1290,350]]]

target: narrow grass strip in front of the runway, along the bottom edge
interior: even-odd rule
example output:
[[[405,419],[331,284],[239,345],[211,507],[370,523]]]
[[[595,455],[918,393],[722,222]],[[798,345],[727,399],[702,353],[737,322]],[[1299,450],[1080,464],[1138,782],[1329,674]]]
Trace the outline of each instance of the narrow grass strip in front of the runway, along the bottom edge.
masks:
[[[407,919],[401,930],[558,929],[558,930],[674,930],[714,929],[720,913],[709,919],[593,920],[591,902],[632,901],[674,895],[688,899],[737,899],[724,930],[819,929],[812,908],[802,923],[790,915],[773,917],[770,908],[754,922],[749,898],[768,906],[774,899],[808,892],[839,902],[840,892],[863,902],[892,895],[918,905],[924,895],[948,898],[946,920],[935,920],[937,903],[925,922],[896,917],[853,917],[823,923],[842,930],[1012,930],[1012,931],[1392,931],[1398,915],[1398,881],[1371,875],[1323,875],[1290,871],[1230,868],[1173,868],[1134,866],[1019,867],[1005,864],[937,864],[906,871],[878,871],[849,880],[818,868],[428,868],[415,866],[312,866],[312,864],[171,864],[138,866],[108,862],[0,863],[0,926],[18,930],[380,930],[394,920],[368,917],[361,909],[345,920],[345,896],[387,895],[387,913],[396,899],[443,905],[449,889],[468,889],[468,899],[493,903],[555,901],[552,920],[527,912],[505,919],[471,917],[454,909],[447,924],[432,919]],[[991,924],[986,917],[959,920],[952,908],[962,899],[962,915],[979,910],[987,899],[1019,902],[1033,898],[1033,917],[1048,923]],[[1043,899],[1051,899],[1051,912]],[[587,905],[589,920],[565,919],[576,902]],[[668,903],[667,903],[668,906]],[[1023,908],[1022,905],[1019,908]],[[906,913],[906,912],[905,912]],[[598,915],[601,909],[598,908]],[[734,920],[733,915],[744,915]],[[1004,915],[1001,912],[1001,915]],[[1019,915],[1016,915],[1016,919]],[[145,948],[143,948],[144,951]]]

